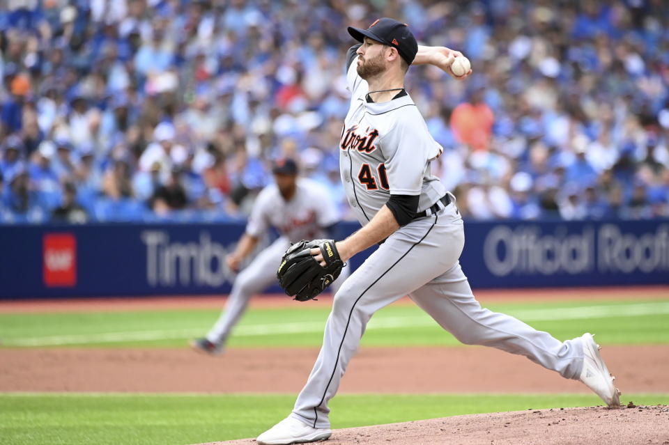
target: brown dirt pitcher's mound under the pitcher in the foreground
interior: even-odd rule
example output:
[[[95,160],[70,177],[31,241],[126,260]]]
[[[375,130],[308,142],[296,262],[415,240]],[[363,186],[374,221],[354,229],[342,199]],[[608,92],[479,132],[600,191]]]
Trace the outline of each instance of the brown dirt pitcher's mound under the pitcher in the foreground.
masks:
[[[334,430],[323,445],[669,444],[669,407],[528,409]],[[271,425],[268,425],[268,428]],[[260,433],[260,432],[259,432]],[[207,445],[254,445],[255,439]]]

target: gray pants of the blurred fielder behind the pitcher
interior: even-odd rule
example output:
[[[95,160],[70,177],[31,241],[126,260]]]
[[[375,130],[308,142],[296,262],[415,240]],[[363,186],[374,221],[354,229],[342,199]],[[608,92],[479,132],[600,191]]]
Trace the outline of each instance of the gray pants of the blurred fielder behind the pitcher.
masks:
[[[212,343],[224,344],[230,332],[249,306],[249,300],[259,292],[263,292],[277,281],[277,269],[281,258],[291,242],[286,237],[279,237],[267,249],[263,249],[245,269],[237,275],[228,297],[225,309],[216,324],[207,334]],[[339,278],[330,286],[331,292],[337,292],[350,274],[350,267],[344,267]],[[289,298],[286,296],[286,298]]]

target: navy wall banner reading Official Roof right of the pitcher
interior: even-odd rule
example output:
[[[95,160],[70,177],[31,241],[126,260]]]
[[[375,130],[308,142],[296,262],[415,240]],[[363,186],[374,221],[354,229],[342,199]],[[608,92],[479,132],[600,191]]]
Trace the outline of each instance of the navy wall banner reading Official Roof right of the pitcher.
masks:
[[[472,287],[669,284],[669,222],[471,223],[461,263]]]

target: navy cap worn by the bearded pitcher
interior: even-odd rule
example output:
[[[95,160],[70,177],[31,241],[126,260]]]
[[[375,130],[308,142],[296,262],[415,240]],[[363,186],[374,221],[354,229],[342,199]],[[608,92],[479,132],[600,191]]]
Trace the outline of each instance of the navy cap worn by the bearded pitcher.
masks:
[[[411,65],[418,52],[418,42],[416,42],[413,33],[409,31],[408,24],[388,17],[377,19],[367,29],[348,26],[348,33],[358,42],[362,42],[365,37],[369,37],[371,40],[394,47],[409,65]]]

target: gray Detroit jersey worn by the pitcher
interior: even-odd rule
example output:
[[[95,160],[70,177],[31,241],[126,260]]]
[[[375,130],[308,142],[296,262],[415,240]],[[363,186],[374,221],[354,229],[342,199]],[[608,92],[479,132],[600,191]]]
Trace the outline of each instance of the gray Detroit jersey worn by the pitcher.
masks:
[[[446,193],[430,168],[443,148],[430,135],[410,95],[380,104],[367,102],[369,86],[357,75],[356,59],[346,75],[351,107],[339,141],[348,203],[362,225],[391,194],[420,195],[417,211],[422,212]]]

